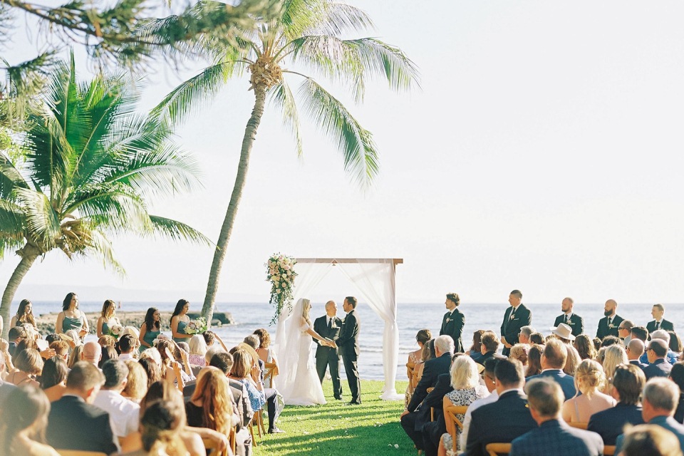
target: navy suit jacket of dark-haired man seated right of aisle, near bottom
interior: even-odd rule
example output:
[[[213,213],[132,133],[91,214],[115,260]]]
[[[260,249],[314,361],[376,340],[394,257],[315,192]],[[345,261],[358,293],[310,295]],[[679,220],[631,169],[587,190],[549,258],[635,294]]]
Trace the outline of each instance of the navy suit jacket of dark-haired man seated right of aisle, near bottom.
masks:
[[[468,456],[487,456],[487,443],[508,443],[537,427],[520,390],[508,390],[497,402],[482,405],[472,412],[466,452]]]

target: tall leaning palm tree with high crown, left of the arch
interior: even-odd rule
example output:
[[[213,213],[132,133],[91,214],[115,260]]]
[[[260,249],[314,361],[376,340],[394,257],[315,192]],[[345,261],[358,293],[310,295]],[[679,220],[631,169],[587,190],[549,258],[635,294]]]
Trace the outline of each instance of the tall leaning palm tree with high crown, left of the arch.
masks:
[[[242,190],[247,177],[249,155],[264,113],[266,98],[281,109],[286,127],[294,133],[301,155],[299,110],[288,78],[302,79],[297,95],[304,113],[341,150],[344,168],[363,187],[378,173],[378,152],[371,132],[364,129],[345,106],[299,67],[319,76],[344,83],[356,101],[363,100],[369,77],[385,78],[393,90],[408,90],[417,84],[417,70],[399,48],[376,38],[343,39],[350,31],[363,31],[373,23],[363,11],[330,0],[284,0],[276,19],[262,21],[257,31],[239,38],[237,48],[204,42],[214,64],[180,84],[157,106],[168,122],[179,122],[204,100],[210,100],[232,76],[249,73],[254,90],[254,108],[247,121],[242,150],[226,217],[219,233],[202,314],[212,320],[219,275],[230,239]],[[285,76],[288,78],[285,78]]]

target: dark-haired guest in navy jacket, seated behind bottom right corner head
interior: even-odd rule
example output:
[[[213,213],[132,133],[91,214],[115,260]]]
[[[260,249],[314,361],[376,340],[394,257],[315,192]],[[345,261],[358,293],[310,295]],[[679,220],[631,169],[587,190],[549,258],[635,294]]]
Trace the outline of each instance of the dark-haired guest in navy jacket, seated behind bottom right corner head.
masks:
[[[633,364],[616,367],[613,372],[611,395],[618,403],[613,408],[591,415],[587,430],[601,435],[604,444],[615,445],[618,435],[627,423],[643,424],[639,402],[643,385],[646,385],[646,376],[640,368]]]

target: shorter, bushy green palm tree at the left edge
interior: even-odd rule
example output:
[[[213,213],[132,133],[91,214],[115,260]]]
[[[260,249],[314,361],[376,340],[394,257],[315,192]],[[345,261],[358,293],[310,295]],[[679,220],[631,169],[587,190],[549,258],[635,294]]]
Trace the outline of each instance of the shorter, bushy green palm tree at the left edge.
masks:
[[[72,56],[58,64],[42,111],[28,116],[24,165],[0,151],[0,258],[9,251],[21,258],[2,295],[4,321],[28,269],[53,249],[70,259],[99,257],[123,274],[109,234],[208,242],[147,213],[147,197],[196,185],[197,166],[166,125],[133,112],[138,98],[126,87],[125,78],[104,76],[79,85]]]

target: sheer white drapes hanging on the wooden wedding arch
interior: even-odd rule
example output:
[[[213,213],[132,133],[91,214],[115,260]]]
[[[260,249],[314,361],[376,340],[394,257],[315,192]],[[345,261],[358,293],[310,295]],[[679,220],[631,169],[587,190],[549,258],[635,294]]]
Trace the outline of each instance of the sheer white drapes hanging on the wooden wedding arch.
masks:
[[[395,388],[397,363],[399,359],[399,329],[397,326],[397,300],[394,259],[303,259],[296,265],[297,279],[294,301],[306,297],[336,265],[358,288],[359,294],[368,306],[385,321],[383,333],[383,373],[385,386],[380,398],[400,400]],[[284,345],[284,321],[289,314],[282,314],[276,329],[276,347]],[[363,322],[361,325],[363,338]],[[359,362],[363,363],[363,358]]]

